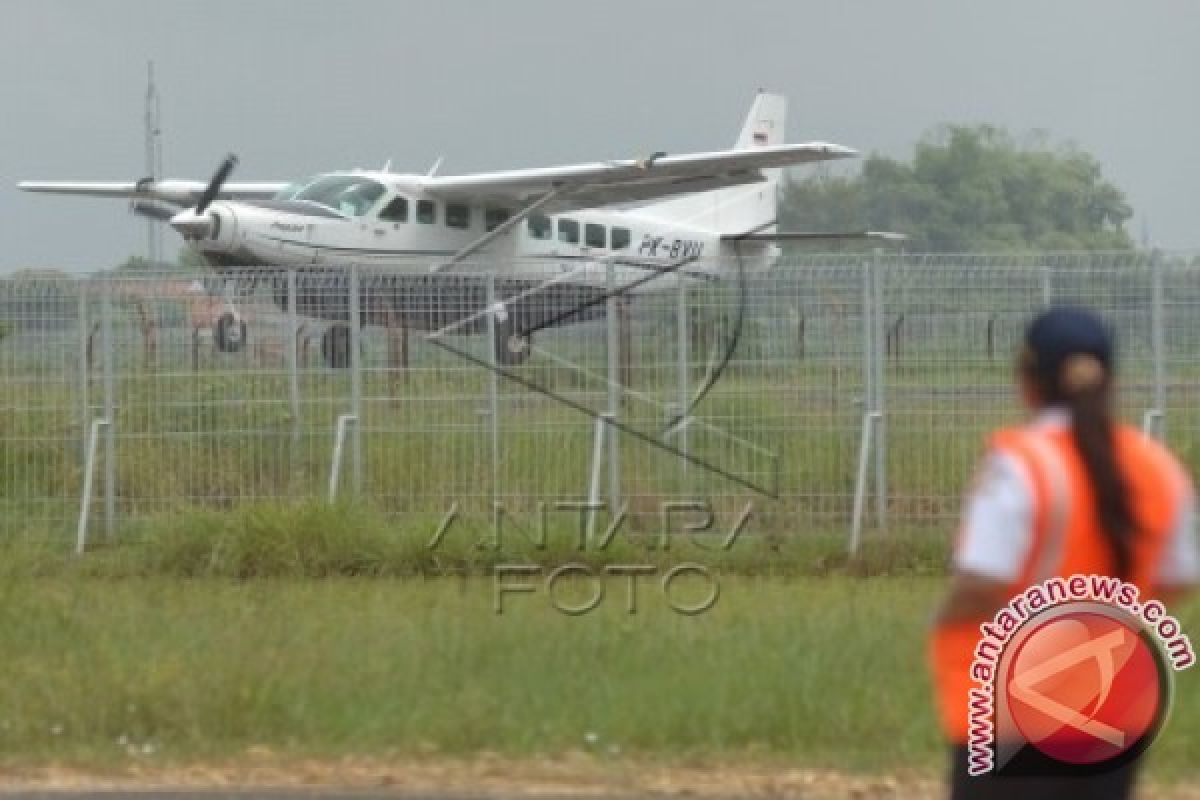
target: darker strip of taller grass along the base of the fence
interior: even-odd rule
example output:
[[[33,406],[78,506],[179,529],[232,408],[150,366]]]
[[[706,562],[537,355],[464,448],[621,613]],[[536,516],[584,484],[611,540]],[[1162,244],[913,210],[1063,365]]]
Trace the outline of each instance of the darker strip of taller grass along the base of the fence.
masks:
[[[869,536],[856,558],[840,530],[779,536],[721,519],[712,531],[683,533],[700,517],[659,516],[638,528],[600,512],[589,539],[578,511],[396,517],[362,503],[264,501],[142,517],[114,540],[95,539],[82,558],[59,539],[0,540],[0,577],[439,577],[512,564],[680,563],[746,576],[940,575],[947,558],[943,537],[919,533]]]

